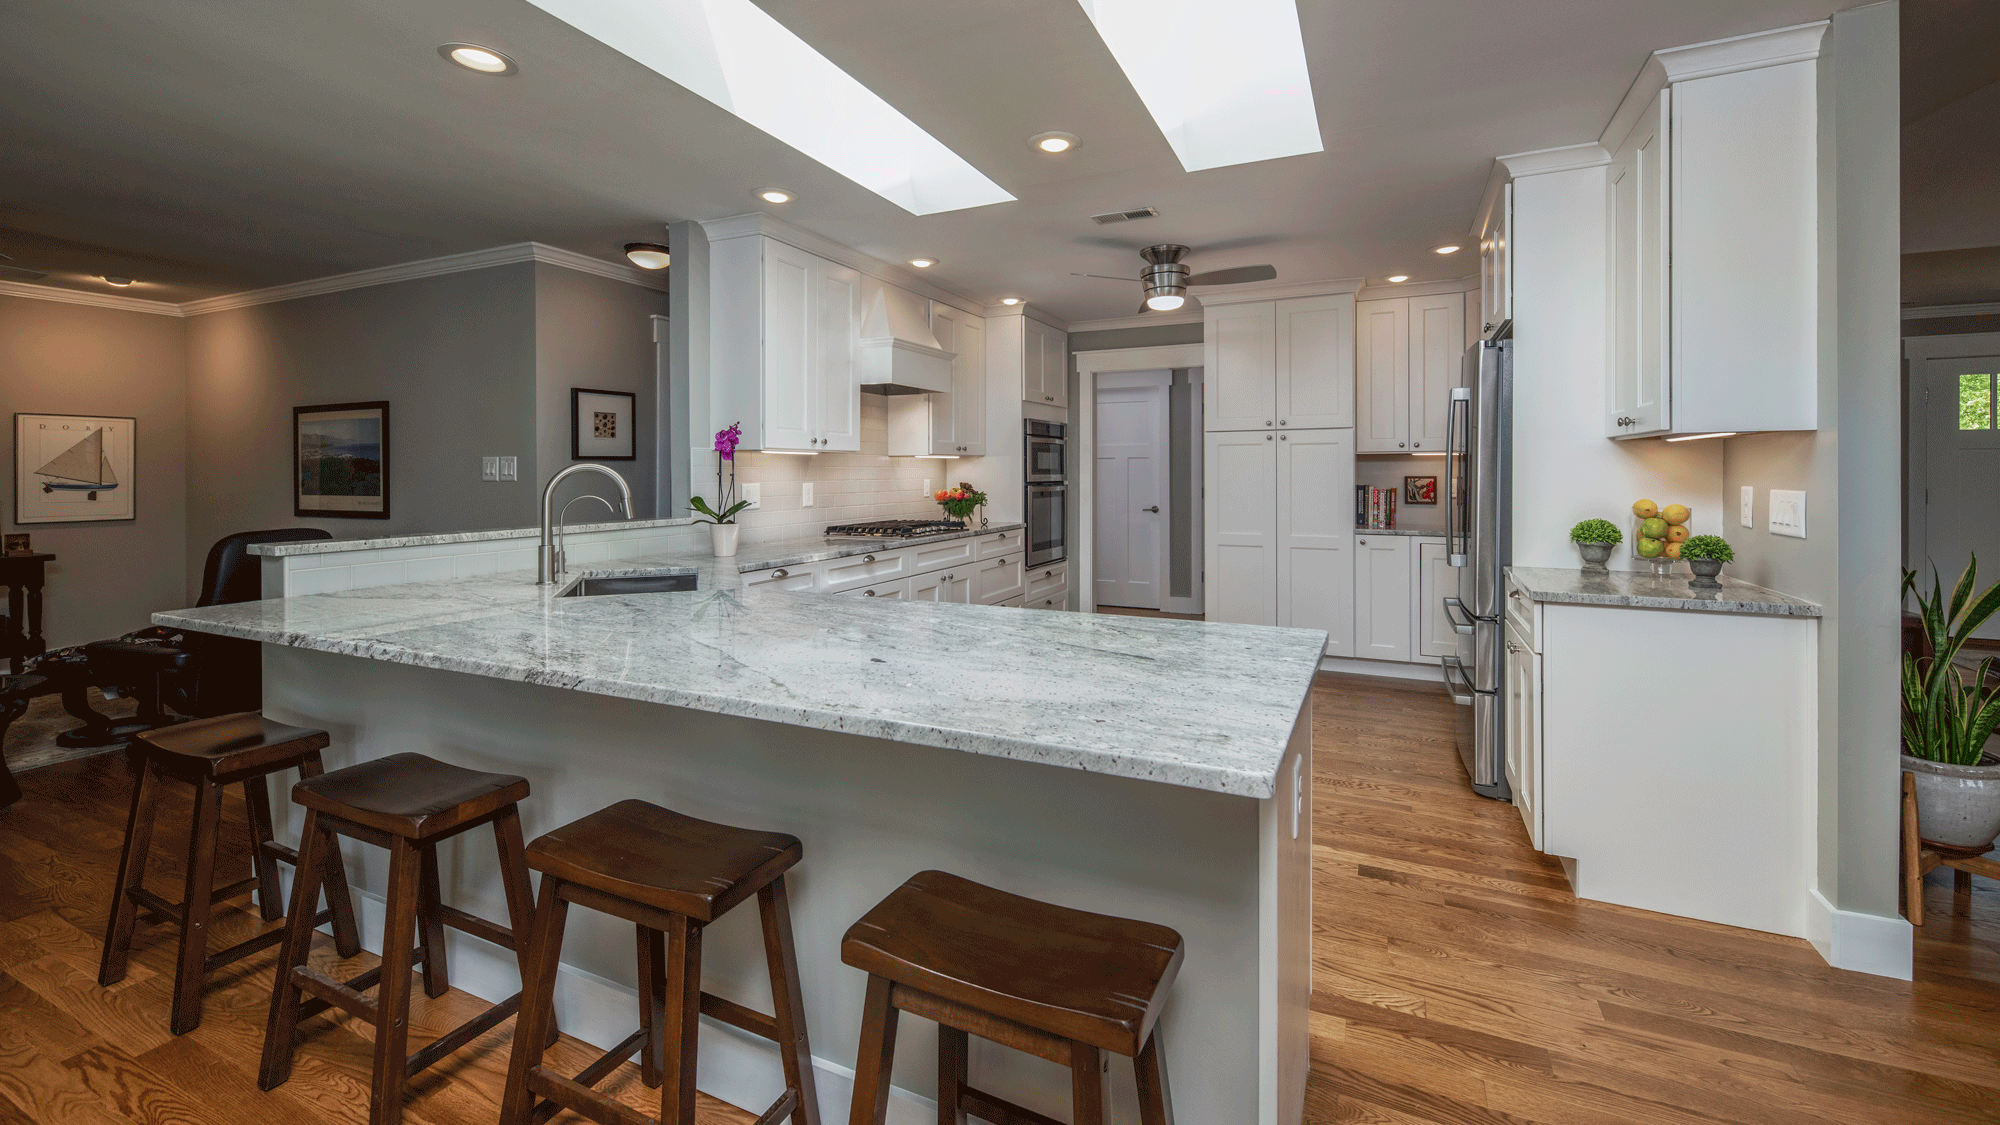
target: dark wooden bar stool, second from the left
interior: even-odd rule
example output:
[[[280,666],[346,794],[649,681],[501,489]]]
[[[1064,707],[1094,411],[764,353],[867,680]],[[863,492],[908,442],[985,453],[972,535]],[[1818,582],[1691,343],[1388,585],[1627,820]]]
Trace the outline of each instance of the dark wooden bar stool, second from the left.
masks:
[[[338,1007],[376,1029],[368,1121],[396,1125],[402,1121],[408,1079],[514,1015],[520,1007],[520,993],[446,1031],[414,1055],[404,1055],[410,1043],[412,969],[418,963],[424,965],[426,995],[442,997],[450,989],[444,965],[444,927],[512,949],[522,959],[522,979],[526,979],[524,951],[516,941],[516,935],[528,933],[532,911],[516,811],[516,805],[526,797],[528,779],[524,777],[478,773],[424,755],[390,755],[336,769],[292,787],[292,801],[306,807],[300,877],[292,887],[292,909],[298,911],[318,893],[318,859],[340,853],[336,837],[352,837],[390,853],[388,921],[382,929],[382,965],[352,981],[334,981],[306,965],[312,929],[302,925],[294,913],[286,927],[278,981],[270,1001],[270,1023],[264,1031],[260,1089],[276,1089],[292,1077],[298,1023]],[[494,843],[500,849],[500,881],[506,887],[512,927],[490,923],[438,901],[438,845],[480,825],[494,827]],[[410,947],[412,939],[418,941],[418,949]],[[382,989],[374,997],[362,995],[376,983]],[[312,995],[310,1001],[304,999],[306,993]]]

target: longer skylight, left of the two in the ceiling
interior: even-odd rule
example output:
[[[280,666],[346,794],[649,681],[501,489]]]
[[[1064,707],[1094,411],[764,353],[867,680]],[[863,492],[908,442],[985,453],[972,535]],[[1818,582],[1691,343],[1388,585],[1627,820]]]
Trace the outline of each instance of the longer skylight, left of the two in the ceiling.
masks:
[[[750,0],[530,2],[910,214],[1014,198]]]

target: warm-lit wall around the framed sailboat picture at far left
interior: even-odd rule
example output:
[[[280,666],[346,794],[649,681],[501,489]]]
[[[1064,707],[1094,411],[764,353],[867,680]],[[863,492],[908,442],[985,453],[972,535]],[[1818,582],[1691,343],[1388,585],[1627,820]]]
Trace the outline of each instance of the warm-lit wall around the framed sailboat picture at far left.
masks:
[[[186,605],[188,382],[182,320],[54,300],[0,296],[0,400],[6,414],[136,418],[132,520],[14,522],[14,420],[0,428],[6,530],[28,532],[48,565],[50,647],[142,629]],[[202,556],[196,556],[200,567]],[[198,577],[198,573],[196,573]]]

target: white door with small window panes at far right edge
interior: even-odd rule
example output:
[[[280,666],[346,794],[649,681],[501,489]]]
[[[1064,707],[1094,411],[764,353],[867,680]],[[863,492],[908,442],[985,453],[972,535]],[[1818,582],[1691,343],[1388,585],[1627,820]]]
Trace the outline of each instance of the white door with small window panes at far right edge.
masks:
[[[1978,587],[2000,579],[2000,522],[1994,520],[1994,482],[2000,480],[2000,356],[1930,360],[1926,364],[1924,434],[1924,542],[1914,567],[1918,585],[1930,569],[1950,591],[1974,556]],[[1812,534],[1812,510],[1806,510]],[[2000,617],[1988,619],[1978,637],[2000,637]]]

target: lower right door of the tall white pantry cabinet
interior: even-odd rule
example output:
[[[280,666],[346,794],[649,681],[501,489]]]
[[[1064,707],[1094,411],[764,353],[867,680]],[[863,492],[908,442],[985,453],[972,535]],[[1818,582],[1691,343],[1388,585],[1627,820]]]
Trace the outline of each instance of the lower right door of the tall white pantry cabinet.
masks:
[[[1354,430],[1278,434],[1278,625],[1354,649]]]

